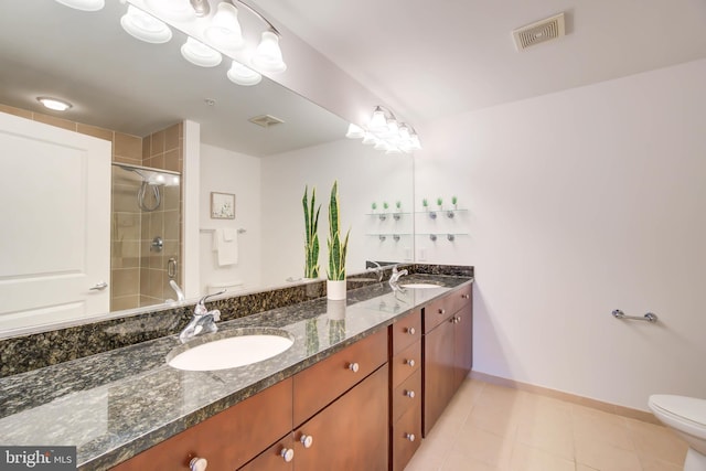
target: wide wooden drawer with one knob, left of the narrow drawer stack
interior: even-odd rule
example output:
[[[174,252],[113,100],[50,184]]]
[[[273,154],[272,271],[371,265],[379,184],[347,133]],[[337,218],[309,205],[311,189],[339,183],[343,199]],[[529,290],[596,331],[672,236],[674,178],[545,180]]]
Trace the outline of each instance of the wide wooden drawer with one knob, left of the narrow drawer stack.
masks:
[[[293,422],[299,426],[387,361],[383,329],[293,376]],[[353,366],[357,371],[353,371]]]

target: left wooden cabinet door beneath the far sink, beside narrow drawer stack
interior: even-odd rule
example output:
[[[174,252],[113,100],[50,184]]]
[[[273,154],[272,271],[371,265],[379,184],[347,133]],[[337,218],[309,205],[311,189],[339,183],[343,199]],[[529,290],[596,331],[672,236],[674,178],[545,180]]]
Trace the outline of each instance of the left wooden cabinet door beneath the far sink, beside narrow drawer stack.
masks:
[[[447,319],[424,338],[424,436],[436,424],[456,392],[454,345],[456,324]]]

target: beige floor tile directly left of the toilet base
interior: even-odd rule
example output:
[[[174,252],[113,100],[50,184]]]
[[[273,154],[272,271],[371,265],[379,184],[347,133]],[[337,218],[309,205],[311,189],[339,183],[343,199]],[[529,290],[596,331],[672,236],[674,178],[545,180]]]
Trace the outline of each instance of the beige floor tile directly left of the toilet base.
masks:
[[[625,419],[628,433],[640,456],[681,464],[688,445],[671,429],[635,419]]]

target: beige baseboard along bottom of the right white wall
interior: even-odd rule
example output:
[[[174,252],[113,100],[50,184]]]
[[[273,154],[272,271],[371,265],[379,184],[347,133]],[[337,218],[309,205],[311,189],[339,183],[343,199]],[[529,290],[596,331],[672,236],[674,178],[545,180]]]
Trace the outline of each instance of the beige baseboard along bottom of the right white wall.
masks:
[[[482,381],[485,383],[495,384],[498,386],[510,387],[513,389],[526,390],[527,393],[541,394],[543,396],[552,397],[555,399],[565,400],[567,403],[578,404],[593,409],[602,410],[610,414],[616,414],[631,419],[638,419],[650,424],[662,425],[652,414],[640,409],[633,409],[630,407],[618,406],[616,404],[603,403],[602,400],[596,400],[584,396],[577,396],[575,394],[564,393],[561,390],[549,389],[548,387],[535,386],[528,383],[522,383],[514,379],[507,379],[500,376],[489,375],[486,373],[480,373],[472,371],[469,374],[472,379]]]

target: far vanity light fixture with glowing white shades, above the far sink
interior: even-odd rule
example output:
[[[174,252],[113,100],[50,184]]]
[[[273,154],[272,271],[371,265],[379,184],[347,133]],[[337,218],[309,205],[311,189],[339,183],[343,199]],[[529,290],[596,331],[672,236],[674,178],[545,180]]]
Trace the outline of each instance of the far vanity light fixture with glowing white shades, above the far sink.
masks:
[[[411,152],[421,149],[419,136],[405,122],[397,122],[395,115],[382,106],[376,106],[367,126],[349,125],[349,139],[363,139],[364,144],[374,144],[385,153]]]

